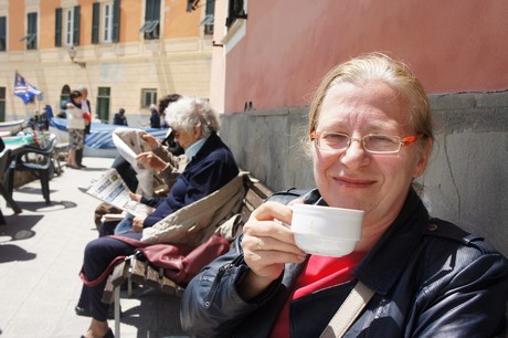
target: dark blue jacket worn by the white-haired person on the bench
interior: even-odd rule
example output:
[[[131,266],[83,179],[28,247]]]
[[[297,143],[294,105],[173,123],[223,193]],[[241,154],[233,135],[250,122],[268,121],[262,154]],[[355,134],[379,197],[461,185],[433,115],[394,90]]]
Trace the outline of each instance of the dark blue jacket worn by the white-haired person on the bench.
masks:
[[[170,213],[219,190],[239,175],[239,167],[230,148],[212,131],[204,145],[178,176],[167,198],[141,202],[156,207],[144,222],[151,226]]]

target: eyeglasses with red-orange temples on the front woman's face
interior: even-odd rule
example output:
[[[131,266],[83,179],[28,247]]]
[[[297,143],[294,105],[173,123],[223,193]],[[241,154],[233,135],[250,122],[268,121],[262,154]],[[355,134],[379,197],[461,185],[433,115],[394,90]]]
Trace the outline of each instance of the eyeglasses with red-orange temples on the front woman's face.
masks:
[[[319,149],[342,151],[348,149],[354,140],[359,141],[363,146],[363,149],[370,154],[396,154],[401,150],[401,146],[411,145],[422,137],[423,134],[404,138],[400,138],[399,136],[369,134],[362,138],[354,138],[342,133],[310,133],[310,140],[316,141],[316,147]]]

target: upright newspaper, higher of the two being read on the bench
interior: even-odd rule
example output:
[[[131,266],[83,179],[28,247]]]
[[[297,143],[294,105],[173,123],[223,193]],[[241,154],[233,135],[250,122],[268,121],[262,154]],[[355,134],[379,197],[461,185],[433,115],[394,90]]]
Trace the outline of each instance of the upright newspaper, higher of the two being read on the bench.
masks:
[[[112,134],[116,149],[130,163],[138,179],[138,191],[146,198],[154,196],[154,170],[145,168],[136,160],[136,156],[151,151],[150,146],[141,138],[142,130],[133,128],[116,128]]]

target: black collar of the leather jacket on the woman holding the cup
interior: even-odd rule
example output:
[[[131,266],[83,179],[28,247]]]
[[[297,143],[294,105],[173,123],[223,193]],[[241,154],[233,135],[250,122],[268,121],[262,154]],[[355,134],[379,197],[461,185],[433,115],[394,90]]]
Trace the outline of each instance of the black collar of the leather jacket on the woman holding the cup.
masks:
[[[317,189],[304,199],[306,203],[326,205]],[[410,189],[401,212],[357,266],[354,276],[374,292],[385,295],[406,267],[410,253],[422,243],[423,231],[427,224],[428,212],[416,192]]]

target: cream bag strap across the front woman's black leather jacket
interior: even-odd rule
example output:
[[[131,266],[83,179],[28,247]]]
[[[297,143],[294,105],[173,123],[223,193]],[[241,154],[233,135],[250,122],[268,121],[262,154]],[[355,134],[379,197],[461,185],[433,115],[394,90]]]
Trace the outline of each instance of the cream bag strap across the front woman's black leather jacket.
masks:
[[[319,338],[342,337],[373,295],[372,289],[358,281]]]

